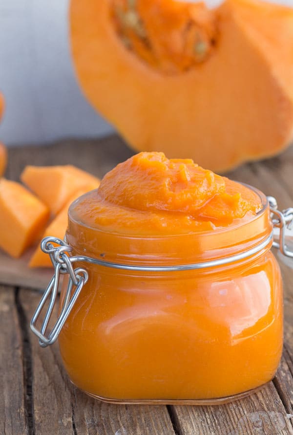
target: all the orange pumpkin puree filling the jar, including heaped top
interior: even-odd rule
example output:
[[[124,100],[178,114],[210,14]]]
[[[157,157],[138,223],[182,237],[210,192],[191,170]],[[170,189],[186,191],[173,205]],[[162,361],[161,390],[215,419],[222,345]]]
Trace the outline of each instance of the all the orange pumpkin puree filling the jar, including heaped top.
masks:
[[[192,160],[142,152],[71,205],[66,239],[73,255],[126,264],[223,258],[270,235],[262,204],[263,194]],[[59,336],[71,380],[96,396],[135,402],[215,399],[270,381],[283,323],[269,249],[167,272],[76,262],[88,282]]]

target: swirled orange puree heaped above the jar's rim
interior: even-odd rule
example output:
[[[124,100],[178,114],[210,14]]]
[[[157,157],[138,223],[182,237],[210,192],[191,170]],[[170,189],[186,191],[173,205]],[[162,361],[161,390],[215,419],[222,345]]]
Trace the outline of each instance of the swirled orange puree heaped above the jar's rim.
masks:
[[[247,187],[191,159],[140,152],[117,165],[74,214],[93,228],[134,235],[210,231],[249,219],[262,208]]]

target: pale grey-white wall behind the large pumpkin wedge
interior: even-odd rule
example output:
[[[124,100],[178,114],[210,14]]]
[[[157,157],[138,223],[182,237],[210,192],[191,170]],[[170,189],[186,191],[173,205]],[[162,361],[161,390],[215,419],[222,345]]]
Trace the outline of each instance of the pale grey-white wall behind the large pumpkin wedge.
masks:
[[[280,2],[293,6],[293,0]],[[77,85],[67,12],[68,0],[0,0],[0,90],[6,101],[0,140],[6,145],[111,131]]]

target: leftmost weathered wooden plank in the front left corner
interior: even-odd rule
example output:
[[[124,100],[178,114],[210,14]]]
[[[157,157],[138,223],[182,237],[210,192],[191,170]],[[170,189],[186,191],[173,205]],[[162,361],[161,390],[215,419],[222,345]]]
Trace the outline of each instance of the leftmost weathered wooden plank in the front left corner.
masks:
[[[0,287],[0,434],[26,435],[23,339],[15,292]]]

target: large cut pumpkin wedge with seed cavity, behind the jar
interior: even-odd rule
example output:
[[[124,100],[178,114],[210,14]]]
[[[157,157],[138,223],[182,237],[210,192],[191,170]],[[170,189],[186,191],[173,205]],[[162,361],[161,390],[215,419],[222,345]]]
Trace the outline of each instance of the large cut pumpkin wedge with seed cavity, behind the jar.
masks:
[[[71,0],[85,96],[135,150],[222,171],[293,137],[293,9],[258,0]]]

